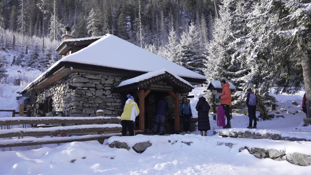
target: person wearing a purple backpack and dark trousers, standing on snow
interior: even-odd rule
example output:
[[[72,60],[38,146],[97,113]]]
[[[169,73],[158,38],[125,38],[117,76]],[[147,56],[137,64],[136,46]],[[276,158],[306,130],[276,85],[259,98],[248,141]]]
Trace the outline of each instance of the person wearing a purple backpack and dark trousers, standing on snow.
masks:
[[[249,129],[257,128],[257,118],[256,118],[257,97],[252,92],[251,88],[248,88],[246,91],[247,91],[246,106],[247,106],[248,117],[249,117],[249,123],[248,123],[247,128]],[[254,121],[254,126],[253,126],[253,121]]]

